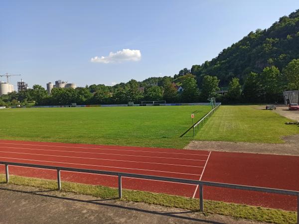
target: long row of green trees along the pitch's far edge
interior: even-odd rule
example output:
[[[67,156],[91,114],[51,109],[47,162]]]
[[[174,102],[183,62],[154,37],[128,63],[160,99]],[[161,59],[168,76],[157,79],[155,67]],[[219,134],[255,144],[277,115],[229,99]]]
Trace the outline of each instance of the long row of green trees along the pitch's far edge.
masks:
[[[12,92],[0,97],[0,106],[27,105],[97,105],[127,104],[133,101],[161,101],[167,103],[208,102],[215,97],[222,103],[269,103],[282,102],[283,91],[299,90],[299,59],[292,60],[282,71],[275,66],[266,67],[261,73],[250,72],[243,85],[239,78],[232,78],[227,93],[219,94],[219,80],[206,75],[198,83],[190,73],[176,77],[151,77],[142,82],[130,80],[115,86],[90,85],[86,87],[53,88],[51,94],[40,85],[31,89]],[[177,92],[174,83],[179,82],[183,91]]]

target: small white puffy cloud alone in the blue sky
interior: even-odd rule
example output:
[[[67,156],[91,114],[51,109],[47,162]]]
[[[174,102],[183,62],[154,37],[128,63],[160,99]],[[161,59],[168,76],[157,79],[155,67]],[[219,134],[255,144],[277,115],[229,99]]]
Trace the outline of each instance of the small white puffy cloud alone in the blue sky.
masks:
[[[94,57],[90,61],[96,63],[121,63],[125,61],[140,61],[141,52],[140,50],[123,49],[116,53],[110,52],[108,56]]]

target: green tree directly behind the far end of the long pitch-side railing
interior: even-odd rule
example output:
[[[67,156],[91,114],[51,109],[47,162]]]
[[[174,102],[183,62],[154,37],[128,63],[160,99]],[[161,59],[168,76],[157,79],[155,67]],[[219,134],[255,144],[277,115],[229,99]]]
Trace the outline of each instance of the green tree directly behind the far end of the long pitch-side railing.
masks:
[[[220,80],[217,79],[216,76],[204,76],[202,80],[202,88],[201,88],[201,96],[203,100],[207,100],[211,97],[217,97],[218,94],[216,93],[219,91],[219,82]]]

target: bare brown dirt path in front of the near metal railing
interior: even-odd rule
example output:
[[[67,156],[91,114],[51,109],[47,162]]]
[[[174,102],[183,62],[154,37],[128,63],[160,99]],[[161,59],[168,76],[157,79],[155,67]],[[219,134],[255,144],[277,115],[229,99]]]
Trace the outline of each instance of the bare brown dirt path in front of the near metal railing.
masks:
[[[7,184],[0,184],[0,200],[5,202],[0,203],[0,224],[255,224],[144,203],[101,200],[87,195]]]

